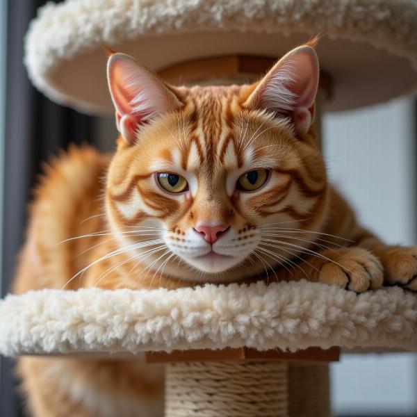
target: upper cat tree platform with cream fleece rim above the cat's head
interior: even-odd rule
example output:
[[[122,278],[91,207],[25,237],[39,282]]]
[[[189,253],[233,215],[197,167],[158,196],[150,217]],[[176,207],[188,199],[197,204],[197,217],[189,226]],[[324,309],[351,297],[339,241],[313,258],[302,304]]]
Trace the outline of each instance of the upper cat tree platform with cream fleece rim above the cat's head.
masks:
[[[168,81],[182,83],[187,81],[181,77],[183,65],[195,70],[197,61],[200,68],[213,68],[213,62],[204,62],[213,57],[276,59],[318,33],[323,35],[317,48],[322,71],[334,85],[326,111],[375,104],[416,90],[413,0],[49,2],[28,31],[25,63],[33,84],[54,101],[113,115],[103,43],[162,76],[176,67],[179,77]],[[218,82],[224,83],[234,65],[220,66]],[[242,82],[268,66],[255,65]],[[207,79],[201,75],[193,81]]]

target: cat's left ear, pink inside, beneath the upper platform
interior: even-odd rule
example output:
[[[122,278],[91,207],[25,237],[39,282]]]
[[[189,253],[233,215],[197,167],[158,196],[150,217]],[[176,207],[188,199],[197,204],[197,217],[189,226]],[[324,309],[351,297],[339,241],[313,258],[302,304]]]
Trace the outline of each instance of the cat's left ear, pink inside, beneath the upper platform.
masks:
[[[117,129],[131,144],[136,141],[140,126],[183,105],[152,71],[126,54],[109,56],[107,80]]]

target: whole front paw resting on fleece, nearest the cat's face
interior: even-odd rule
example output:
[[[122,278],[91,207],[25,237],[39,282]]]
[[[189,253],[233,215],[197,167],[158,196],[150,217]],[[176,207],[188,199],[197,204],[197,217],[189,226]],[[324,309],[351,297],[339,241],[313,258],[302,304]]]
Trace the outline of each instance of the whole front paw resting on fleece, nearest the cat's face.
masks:
[[[351,247],[322,260],[318,281],[341,286],[355,293],[381,288],[384,282],[382,263],[368,250]]]

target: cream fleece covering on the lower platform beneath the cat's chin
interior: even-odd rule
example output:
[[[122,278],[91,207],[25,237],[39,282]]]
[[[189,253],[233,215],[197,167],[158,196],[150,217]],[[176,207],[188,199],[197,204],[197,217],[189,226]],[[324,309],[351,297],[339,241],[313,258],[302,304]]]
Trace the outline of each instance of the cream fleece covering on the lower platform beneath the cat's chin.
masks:
[[[417,350],[417,296],[307,281],[154,291],[44,289],[0,302],[0,353],[223,347]]]

